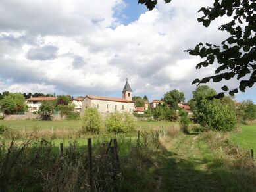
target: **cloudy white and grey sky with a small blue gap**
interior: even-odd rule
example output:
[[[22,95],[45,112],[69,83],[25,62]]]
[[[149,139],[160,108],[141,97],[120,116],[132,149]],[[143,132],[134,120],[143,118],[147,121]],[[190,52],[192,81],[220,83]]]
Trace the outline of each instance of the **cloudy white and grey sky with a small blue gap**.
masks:
[[[219,44],[228,34],[197,22],[212,0],[159,1],[148,11],[136,0],[1,0],[0,92],[122,97],[128,78],[133,95],[161,99],[172,89],[196,88],[218,64],[196,70],[199,57],[184,53],[199,42]],[[188,5],[189,4],[189,5]],[[209,83],[237,87],[236,80]],[[236,99],[256,102],[256,86]]]

